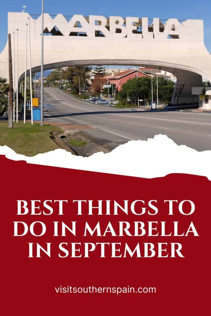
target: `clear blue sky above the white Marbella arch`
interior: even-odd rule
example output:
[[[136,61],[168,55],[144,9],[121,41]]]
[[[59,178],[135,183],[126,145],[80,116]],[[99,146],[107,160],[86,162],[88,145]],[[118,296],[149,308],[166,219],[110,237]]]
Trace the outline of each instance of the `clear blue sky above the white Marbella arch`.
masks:
[[[10,0],[1,2],[0,10],[0,52],[7,41],[7,12],[20,12],[26,5],[29,14],[40,14],[41,0]],[[138,0],[45,0],[45,12],[49,14],[62,13],[64,15],[119,15],[147,16],[160,19],[177,18],[179,20],[202,19],[204,20],[204,40],[208,51],[211,53],[211,1],[204,0],[175,0],[175,1],[138,1]]]

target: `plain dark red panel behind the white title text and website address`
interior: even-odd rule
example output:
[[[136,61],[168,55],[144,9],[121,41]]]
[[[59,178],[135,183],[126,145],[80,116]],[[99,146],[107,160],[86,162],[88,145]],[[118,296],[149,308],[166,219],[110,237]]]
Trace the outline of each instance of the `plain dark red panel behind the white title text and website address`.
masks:
[[[203,315],[209,310],[211,182],[171,174],[142,179],[16,162],[0,156],[3,315]],[[100,163],[100,162],[99,162]],[[11,179],[12,175],[12,179]],[[16,200],[158,200],[157,216],[16,216]],[[166,216],[163,200],[193,200],[192,216]],[[12,237],[13,221],[193,221],[200,237]],[[171,225],[170,225],[171,228]],[[58,258],[60,242],[181,242],[185,258]],[[52,258],[29,259],[27,242],[53,242]],[[156,294],[56,294],[55,287],[156,287]]]

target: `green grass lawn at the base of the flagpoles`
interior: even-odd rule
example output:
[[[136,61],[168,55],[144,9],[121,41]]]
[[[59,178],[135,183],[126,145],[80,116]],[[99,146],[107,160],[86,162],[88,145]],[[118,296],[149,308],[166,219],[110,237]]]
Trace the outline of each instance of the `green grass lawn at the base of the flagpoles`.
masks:
[[[62,131],[59,126],[23,122],[14,123],[8,128],[8,122],[0,123],[0,146],[7,145],[16,153],[34,156],[59,148],[50,138],[50,132]]]

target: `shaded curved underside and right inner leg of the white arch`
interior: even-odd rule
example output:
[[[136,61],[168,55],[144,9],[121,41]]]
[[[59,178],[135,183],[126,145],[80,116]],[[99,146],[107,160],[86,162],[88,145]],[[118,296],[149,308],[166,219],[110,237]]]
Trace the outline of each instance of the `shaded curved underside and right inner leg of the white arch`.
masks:
[[[44,70],[51,70],[55,68],[62,68],[74,65],[113,65],[113,66],[143,66],[154,68],[158,70],[164,70],[172,73],[177,77],[177,82],[175,89],[172,95],[171,104],[198,104],[199,97],[198,95],[192,95],[192,87],[201,87],[202,86],[202,76],[206,75],[192,67],[165,63],[160,61],[153,60],[135,60],[135,59],[98,59],[98,60],[68,60],[62,62],[56,62],[52,64],[45,64]],[[32,68],[32,73],[40,72],[41,67],[37,66]],[[27,71],[27,76],[29,75],[29,70]],[[19,78],[19,84],[24,80],[25,73],[23,73]]]

